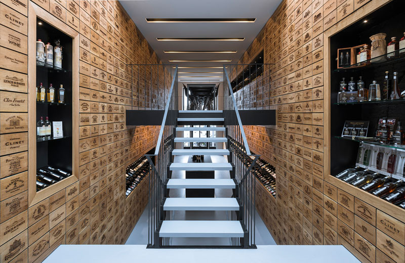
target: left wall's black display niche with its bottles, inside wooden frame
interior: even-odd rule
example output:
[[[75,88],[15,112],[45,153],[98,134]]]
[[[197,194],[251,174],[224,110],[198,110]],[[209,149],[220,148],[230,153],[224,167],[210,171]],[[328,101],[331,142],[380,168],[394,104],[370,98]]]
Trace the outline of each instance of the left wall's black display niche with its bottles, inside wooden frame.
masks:
[[[72,38],[36,21],[36,191],[72,174]]]

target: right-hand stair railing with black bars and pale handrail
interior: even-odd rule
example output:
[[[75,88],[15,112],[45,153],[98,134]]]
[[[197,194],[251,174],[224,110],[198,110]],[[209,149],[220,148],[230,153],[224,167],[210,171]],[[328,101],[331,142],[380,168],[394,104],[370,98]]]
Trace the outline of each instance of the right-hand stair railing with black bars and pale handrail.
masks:
[[[243,239],[232,238],[232,245],[256,248],[256,180],[253,168],[259,155],[250,152],[245,130],[240,120],[239,110],[229,80],[229,65],[224,65],[223,113],[226,128],[229,162],[234,166],[232,177],[237,187],[234,195],[239,200],[240,210],[231,213],[231,220],[239,219],[244,227]]]

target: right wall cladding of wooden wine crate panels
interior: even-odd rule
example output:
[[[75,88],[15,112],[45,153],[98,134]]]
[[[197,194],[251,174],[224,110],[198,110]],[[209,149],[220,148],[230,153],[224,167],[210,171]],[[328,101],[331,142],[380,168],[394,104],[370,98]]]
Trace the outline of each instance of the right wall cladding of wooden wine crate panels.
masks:
[[[276,127],[245,126],[245,131],[250,148],[276,167],[276,198],[257,182],[256,207],[277,244],[342,244],[362,262],[404,261],[403,213],[389,214],[369,194],[325,181],[330,176],[323,167],[330,136],[323,114],[330,103],[323,101],[324,84],[330,89],[324,32],[344,28],[387,2],[283,1],[239,61],[249,63],[264,49],[264,63],[274,64],[269,105],[263,107],[276,108]]]

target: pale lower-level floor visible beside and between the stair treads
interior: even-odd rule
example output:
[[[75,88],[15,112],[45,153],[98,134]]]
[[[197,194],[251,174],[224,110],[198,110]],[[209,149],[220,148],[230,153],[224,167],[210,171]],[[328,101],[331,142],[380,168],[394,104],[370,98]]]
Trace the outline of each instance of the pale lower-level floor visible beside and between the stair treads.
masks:
[[[188,155],[176,156],[175,162],[187,162]],[[224,156],[212,155],[212,162],[226,162]],[[184,179],[185,171],[173,171],[173,179]],[[215,171],[215,179],[229,179],[229,171]],[[231,197],[231,189],[216,189],[216,197]],[[184,189],[171,189],[170,197],[184,197]],[[227,211],[175,211],[171,214],[172,220],[228,220]],[[262,219],[256,211],[256,245],[275,245]],[[146,245],[148,243],[148,207],[145,209],[126,245]],[[228,246],[229,238],[172,238],[172,245],[214,245]]]

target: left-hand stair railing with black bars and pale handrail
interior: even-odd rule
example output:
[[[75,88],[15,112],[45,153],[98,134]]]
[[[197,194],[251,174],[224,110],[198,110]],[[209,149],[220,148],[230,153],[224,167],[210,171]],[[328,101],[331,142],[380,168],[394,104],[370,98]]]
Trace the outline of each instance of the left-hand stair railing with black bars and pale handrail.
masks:
[[[170,220],[170,214],[163,210],[166,196],[165,183],[169,179],[169,165],[172,160],[171,152],[174,149],[174,138],[176,136],[176,121],[178,116],[178,76],[177,65],[171,75],[171,86],[168,92],[168,99],[165,103],[165,114],[161,122],[159,137],[157,138],[154,154],[146,155],[150,164],[149,171],[149,228],[148,247],[158,248],[169,245],[169,238],[159,238],[159,227],[164,220]],[[157,157],[156,165],[151,158]]]

